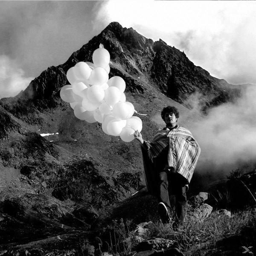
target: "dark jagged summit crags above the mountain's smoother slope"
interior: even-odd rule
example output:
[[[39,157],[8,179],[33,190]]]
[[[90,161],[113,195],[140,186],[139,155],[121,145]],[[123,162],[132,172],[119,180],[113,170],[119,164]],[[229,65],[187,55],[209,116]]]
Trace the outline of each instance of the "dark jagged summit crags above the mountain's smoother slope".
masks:
[[[47,105],[52,105],[60,88],[69,83],[65,76],[67,70],[79,61],[92,61],[93,51],[99,44],[110,52],[110,76],[122,76],[127,84],[126,91],[144,93],[148,89],[145,85],[150,84],[181,104],[192,93],[198,92],[202,95],[201,105],[207,108],[239,96],[239,89],[195,66],[184,52],[168,46],[161,39],[153,42],[134,29],[122,28],[119,23],[113,22],[74,52],[64,64],[43,71],[12,100],[12,105],[17,105],[17,99],[32,99],[36,105],[47,108],[36,102],[44,99],[49,101]],[[4,107],[9,108],[8,101],[3,99],[3,102]],[[8,110],[17,113],[17,108]]]

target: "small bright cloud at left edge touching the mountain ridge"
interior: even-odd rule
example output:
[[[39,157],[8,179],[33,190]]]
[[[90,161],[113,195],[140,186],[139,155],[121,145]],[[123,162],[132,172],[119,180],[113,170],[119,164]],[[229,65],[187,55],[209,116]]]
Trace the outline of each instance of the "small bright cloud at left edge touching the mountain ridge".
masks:
[[[26,89],[32,79],[24,76],[24,71],[17,67],[16,61],[0,55],[0,99],[16,96]]]

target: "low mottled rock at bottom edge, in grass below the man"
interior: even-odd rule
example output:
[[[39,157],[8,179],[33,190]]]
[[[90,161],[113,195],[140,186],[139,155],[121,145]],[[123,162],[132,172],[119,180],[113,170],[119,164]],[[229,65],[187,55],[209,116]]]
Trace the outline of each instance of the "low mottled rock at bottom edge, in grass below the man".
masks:
[[[174,240],[164,239],[164,238],[153,238],[141,242],[136,246],[136,251],[145,251],[145,250],[163,250],[172,247],[175,244]]]

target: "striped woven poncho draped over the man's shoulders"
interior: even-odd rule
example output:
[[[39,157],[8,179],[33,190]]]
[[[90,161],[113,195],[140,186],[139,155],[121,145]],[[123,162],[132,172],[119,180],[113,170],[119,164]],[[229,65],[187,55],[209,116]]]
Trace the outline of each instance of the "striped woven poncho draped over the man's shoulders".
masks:
[[[164,169],[173,169],[190,182],[200,154],[200,147],[191,132],[186,128],[177,126],[171,131],[169,128],[157,132],[151,142],[144,141],[143,162],[145,169],[145,180],[148,190],[154,194],[156,173],[159,169],[157,158],[167,149]],[[162,160],[161,160],[162,161]],[[173,167],[173,168],[172,168]],[[162,168],[162,167],[161,167]]]

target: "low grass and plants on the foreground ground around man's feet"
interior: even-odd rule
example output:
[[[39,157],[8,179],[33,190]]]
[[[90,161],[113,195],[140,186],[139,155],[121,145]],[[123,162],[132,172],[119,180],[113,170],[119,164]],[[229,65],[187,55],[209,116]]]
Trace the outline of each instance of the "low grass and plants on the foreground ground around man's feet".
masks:
[[[254,246],[256,241],[256,209],[233,212],[231,217],[212,212],[209,217],[200,221],[189,212],[185,224],[177,231],[172,225],[163,225],[160,221],[149,222],[143,240],[154,237],[174,240],[176,247],[186,256],[218,255],[229,247],[243,252],[242,246]],[[109,253],[114,256],[132,256],[139,243],[138,234],[133,230],[132,221],[114,220],[101,231],[102,239],[109,244]],[[235,239],[236,238],[236,239]],[[241,244],[237,243],[237,238]],[[81,254],[83,255],[83,254]],[[84,250],[84,255],[86,250]],[[229,254],[221,254],[229,255]]]

